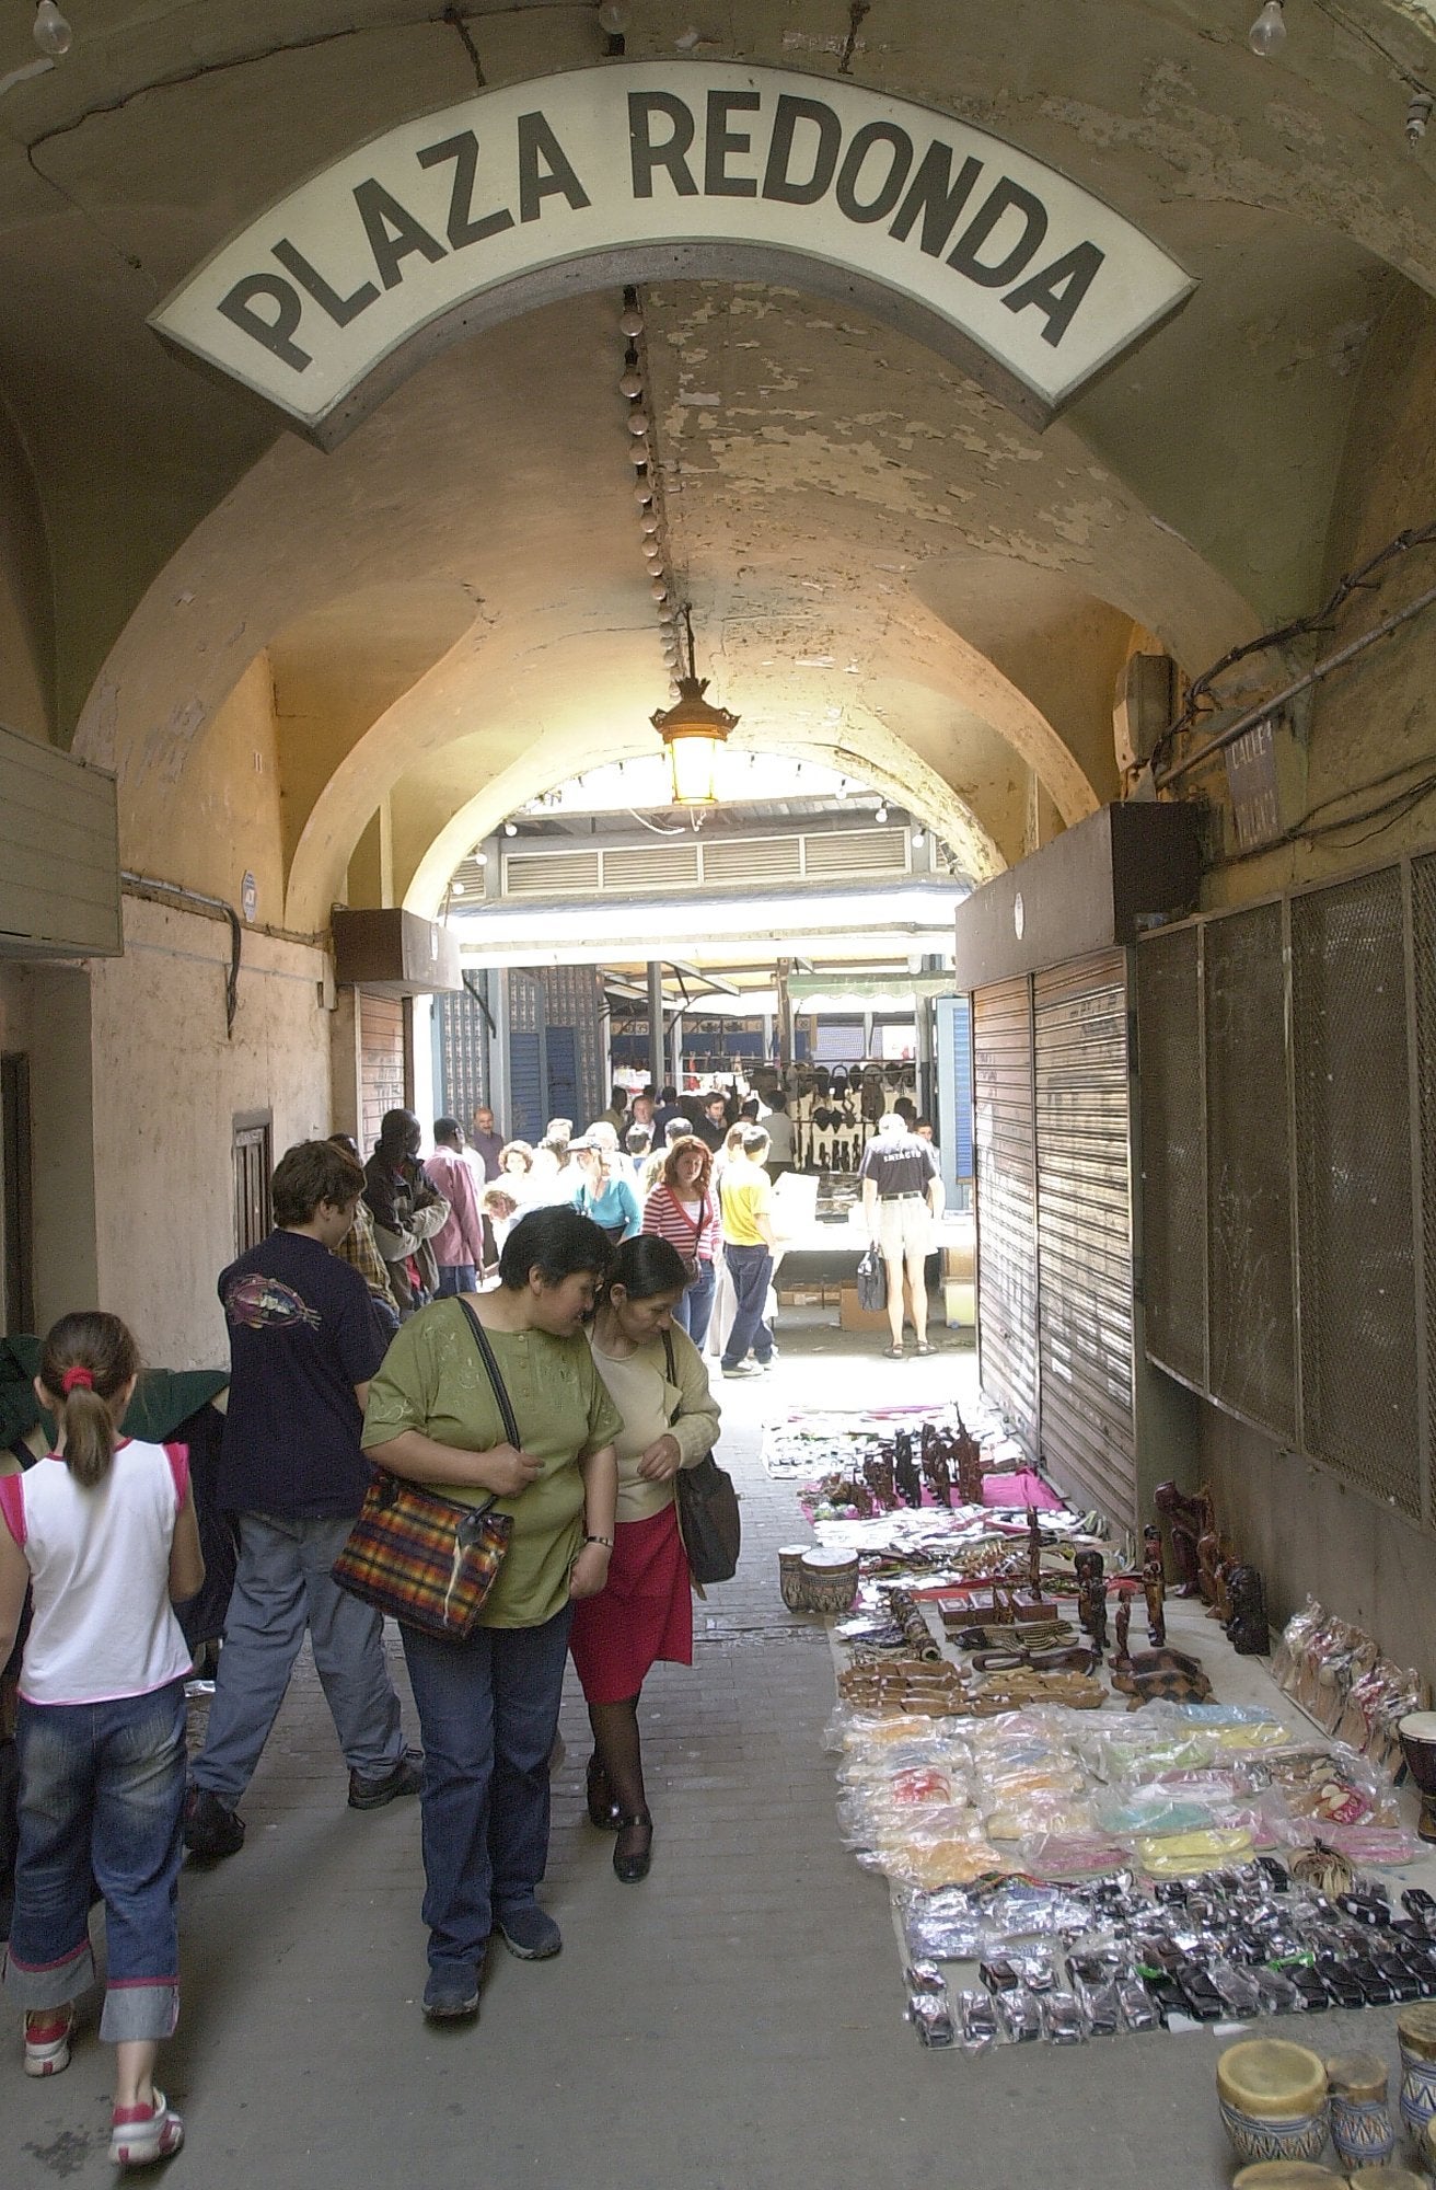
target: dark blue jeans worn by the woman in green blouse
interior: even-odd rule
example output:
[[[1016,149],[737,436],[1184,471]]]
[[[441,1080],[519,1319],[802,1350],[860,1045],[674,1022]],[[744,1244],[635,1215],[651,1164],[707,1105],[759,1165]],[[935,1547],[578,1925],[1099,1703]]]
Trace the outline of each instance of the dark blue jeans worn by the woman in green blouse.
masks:
[[[549,1855],[549,1754],[574,1605],[541,1627],[440,1642],[401,1623],[425,1737],[429,1967],[473,1978],[495,1912],[534,1899]]]

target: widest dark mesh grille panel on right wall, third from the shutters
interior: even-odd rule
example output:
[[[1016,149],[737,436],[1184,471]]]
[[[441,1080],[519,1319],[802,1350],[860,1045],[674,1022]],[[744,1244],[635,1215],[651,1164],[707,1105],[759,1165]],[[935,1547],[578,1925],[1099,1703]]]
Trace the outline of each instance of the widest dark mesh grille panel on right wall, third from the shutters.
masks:
[[[1302,1443],[1421,1513],[1401,869],[1292,900]]]

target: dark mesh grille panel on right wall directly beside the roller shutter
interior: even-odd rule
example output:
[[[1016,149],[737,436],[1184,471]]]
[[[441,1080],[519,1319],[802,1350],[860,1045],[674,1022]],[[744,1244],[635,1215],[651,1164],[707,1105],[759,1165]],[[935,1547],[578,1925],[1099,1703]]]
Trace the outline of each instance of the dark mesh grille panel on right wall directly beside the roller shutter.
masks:
[[[1136,953],[1147,1353],[1206,1382],[1206,1130],[1195,929]]]

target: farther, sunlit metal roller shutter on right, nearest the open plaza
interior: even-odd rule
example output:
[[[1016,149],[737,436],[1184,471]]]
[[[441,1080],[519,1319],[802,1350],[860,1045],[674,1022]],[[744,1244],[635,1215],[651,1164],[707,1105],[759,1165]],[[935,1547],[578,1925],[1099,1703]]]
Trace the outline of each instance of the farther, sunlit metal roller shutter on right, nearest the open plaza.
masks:
[[[976,1327],[983,1391],[1038,1454],[1038,1167],[1027,977],[972,999]]]

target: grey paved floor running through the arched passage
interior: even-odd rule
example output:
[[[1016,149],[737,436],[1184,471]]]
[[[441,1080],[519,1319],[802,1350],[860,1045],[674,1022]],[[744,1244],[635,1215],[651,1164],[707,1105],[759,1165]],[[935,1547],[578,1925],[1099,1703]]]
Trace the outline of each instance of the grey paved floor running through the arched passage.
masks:
[[[309,1658],[243,1805],[250,1840],[186,1872],[184,2015],[164,2080],[186,2151],[166,2181],[372,2190],[1208,2190],[1230,2168],[1208,2035],[968,2061],[902,2021],[887,1892],[843,1853],[819,1734],[832,1660],[790,1618],[773,1551],[792,1487],[757,1465],[764,1417],[814,1399],[974,1388],[972,1356],[904,1364],[876,1340],[788,1332],[766,1382],[727,1382],[725,1461],[744,1491],[740,1577],[698,1605],[692,1673],[646,1693],[655,1868],[615,1881],[582,1820],[587,1721],[565,1702],[545,1899],[556,1962],[495,1945],[477,2028],[418,2015],[418,1813],[344,1807]],[[862,1351],[854,1351],[860,1347]],[[396,1678],[403,1658],[394,1642]],[[1322,2050],[1377,2043],[1390,2010],[1324,2017]],[[0,2183],[107,2179],[107,2048],[70,2072],[0,2065]]]

